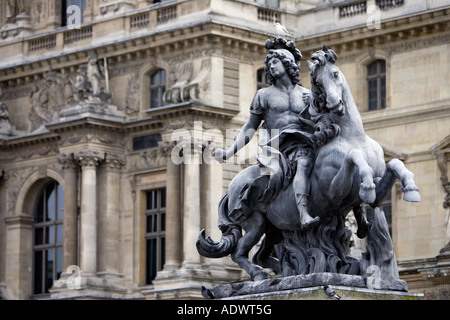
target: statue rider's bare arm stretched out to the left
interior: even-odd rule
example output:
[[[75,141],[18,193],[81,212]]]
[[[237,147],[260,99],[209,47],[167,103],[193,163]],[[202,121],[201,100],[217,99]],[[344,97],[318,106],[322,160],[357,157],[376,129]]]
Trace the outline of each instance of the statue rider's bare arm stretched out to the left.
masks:
[[[214,157],[216,158],[216,160],[222,163],[225,160],[228,160],[232,156],[234,156],[236,152],[238,152],[247,143],[250,142],[259,125],[261,124],[261,121],[262,121],[261,115],[250,113],[250,118],[248,119],[247,123],[244,124],[244,126],[241,128],[241,131],[236,137],[236,140],[234,141],[231,148],[228,150],[217,148],[215,150]]]

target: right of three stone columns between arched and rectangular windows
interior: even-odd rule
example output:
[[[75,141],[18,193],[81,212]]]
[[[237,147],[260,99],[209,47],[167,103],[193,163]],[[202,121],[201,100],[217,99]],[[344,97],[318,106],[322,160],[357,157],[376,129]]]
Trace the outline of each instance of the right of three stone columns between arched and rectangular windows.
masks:
[[[102,163],[102,188],[99,191],[102,205],[98,217],[98,271],[119,272],[119,234],[120,234],[120,169],[125,158],[106,154]]]

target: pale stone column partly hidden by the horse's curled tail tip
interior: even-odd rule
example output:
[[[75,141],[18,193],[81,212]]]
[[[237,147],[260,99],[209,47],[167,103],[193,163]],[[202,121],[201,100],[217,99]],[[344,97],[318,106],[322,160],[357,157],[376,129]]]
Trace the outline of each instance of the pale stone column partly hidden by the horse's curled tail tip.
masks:
[[[190,158],[188,158],[189,156]],[[194,147],[191,155],[185,155],[184,159],[183,267],[189,269],[200,264],[200,255],[195,247],[195,242],[200,232],[201,154]]]

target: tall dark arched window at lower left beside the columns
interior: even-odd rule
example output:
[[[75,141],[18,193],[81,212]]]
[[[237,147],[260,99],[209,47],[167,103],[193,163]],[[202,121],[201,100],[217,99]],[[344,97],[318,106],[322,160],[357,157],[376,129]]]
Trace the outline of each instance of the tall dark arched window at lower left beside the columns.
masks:
[[[56,181],[42,187],[33,225],[33,294],[48,293],[62,272],[64,192]]]

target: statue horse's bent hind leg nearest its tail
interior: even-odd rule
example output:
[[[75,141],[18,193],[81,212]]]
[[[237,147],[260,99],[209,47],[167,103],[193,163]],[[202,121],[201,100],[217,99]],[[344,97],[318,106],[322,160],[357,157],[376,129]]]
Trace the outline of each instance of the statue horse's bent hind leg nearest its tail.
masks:
[[[253,281],[267,279],[267,273],[248,259],[248,253],[266,230],[266,218],[261,212],[255,211],[241,223],[241,226],[245,230],[245,234],[239,239],[236,250],[231,254],[231,259],[244,269]]]

